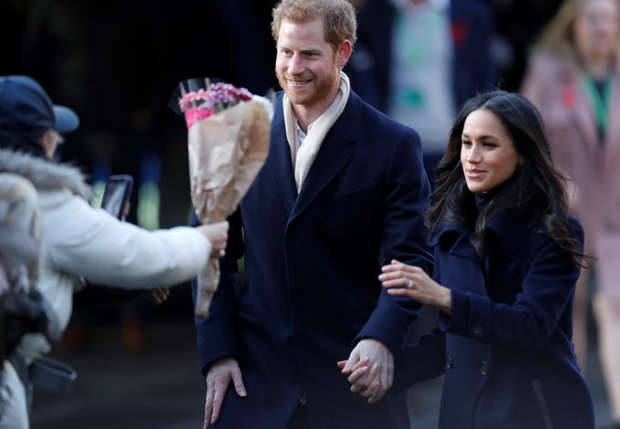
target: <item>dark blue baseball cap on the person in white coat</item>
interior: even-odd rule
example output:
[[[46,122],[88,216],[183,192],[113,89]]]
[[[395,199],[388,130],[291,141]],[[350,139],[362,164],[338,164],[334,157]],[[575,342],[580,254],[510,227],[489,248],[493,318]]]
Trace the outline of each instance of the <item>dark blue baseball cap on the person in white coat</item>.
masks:
[[[50,129],[78,129],[76,112],[57,106],[35,79],[27,76],[0,77],[0,129],[37,139]]]

